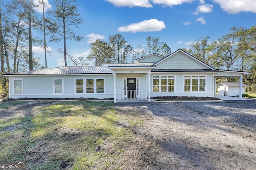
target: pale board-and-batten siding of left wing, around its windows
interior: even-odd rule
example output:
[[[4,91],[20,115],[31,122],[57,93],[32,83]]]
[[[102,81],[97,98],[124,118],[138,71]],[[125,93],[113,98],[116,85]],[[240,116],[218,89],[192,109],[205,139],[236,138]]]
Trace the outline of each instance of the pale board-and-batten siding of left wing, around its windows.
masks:
[[[54,80],[62,80],[62,93],[55,93]],[[76,79],[84,80],[84,92],[76,93]],[[86,79],[104,79],[104,93],[86,93]],[[112,75],[10,76],[9,98],[113,98]],[[22,94],[14,94],[14,80],[22,80]]]

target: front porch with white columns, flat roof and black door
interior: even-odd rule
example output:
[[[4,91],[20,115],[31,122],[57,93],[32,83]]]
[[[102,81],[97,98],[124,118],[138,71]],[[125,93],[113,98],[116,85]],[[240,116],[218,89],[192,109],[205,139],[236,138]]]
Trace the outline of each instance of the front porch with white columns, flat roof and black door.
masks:
[[[152,63],[112,64],[114,103],[116,101],[148,101],[150,102],[150,80]]]

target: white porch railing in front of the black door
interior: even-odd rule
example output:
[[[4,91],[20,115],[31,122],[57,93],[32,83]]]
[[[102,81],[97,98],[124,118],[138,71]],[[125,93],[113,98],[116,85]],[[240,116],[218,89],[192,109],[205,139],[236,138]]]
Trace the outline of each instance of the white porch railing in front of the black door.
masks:
[[[148,100],[148,90],[116,90],[116,100]]]

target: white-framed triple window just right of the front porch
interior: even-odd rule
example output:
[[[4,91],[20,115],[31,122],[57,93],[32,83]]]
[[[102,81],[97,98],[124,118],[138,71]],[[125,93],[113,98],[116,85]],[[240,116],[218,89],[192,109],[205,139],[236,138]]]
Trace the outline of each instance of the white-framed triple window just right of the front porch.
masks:
[[[153,76],[153,92],[174,92],[174,76]]]

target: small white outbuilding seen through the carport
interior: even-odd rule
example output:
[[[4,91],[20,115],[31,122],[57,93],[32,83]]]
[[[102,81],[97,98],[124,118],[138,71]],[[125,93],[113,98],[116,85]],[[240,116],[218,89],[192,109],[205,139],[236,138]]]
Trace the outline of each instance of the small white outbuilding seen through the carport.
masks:
[[[239,83],[218,83],[216,86],[218,88],[218,95],[220,96],[239,96]],[[242,83],[242,94],[245,94],[245,87],[249,86]]]

